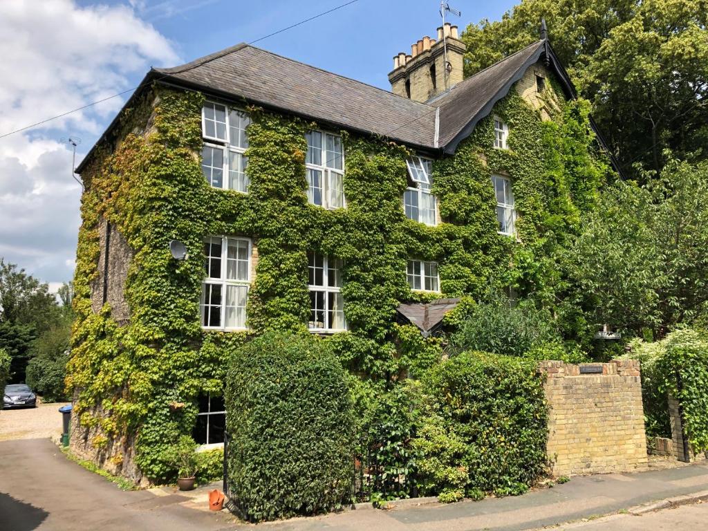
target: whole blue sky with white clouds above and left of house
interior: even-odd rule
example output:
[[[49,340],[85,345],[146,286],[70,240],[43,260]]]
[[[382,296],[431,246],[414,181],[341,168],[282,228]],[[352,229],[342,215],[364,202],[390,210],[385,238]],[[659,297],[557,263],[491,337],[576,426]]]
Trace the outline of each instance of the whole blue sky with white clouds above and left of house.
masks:
[[[176,66],[329,10],[346,0],[0,1],[0,135],[135,86],[150,66]],[[513,2],[455,0],[467,24]],[[398,52],[440,25],[435,0],[358,0],[256,45],[389,89]],[[60,23],[59,23],[60,21]],[[56,289],[72,279],[81,188],[65,139],[88,152],[130,93],[0,138],[0,258]]]

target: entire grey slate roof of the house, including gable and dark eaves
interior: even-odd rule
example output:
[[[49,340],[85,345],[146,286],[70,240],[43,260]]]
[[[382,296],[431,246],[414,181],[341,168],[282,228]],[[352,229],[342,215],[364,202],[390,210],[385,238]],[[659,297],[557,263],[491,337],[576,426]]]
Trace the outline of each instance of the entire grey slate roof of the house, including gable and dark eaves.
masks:
[[[132,105],[142,89],[161,81],[200,90],[212,97],[300,115],[325,126],[381,135],[414,148],[452,154],[457,144],[472,133],[476,123],[491,113],[494,103],[506,96],[527,67],[542,56],[558,74],[566,96],[574,97],[569,76],[547,39],[534,42],[426,103],[242,43],[180,67],[151,69],[124,108]],[[118,116],[96,146],[112,134]],[[594,122],[591,124],[605,147]],[[96,146],[79,164],[78,173],[91,159]],[[617,164],[615,168],[619,170]]]

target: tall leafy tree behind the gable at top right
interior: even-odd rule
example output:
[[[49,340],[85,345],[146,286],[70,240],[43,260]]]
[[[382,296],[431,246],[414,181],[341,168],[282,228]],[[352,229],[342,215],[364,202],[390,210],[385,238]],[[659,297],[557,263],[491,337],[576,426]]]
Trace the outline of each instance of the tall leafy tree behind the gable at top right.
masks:
[[[624,169],[660,171],[663,149],[708,157],[705,0],[523,0],[501,21],[467,27],[465,74],[538,40],[542,17]]]

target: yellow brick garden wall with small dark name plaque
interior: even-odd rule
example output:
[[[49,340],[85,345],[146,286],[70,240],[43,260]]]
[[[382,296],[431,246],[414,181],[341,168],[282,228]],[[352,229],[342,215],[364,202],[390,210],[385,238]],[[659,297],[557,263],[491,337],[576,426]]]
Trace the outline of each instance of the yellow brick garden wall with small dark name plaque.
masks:
[[[547,452],[556,476],[627,472],[647,464],[639,362],[545,361]]]

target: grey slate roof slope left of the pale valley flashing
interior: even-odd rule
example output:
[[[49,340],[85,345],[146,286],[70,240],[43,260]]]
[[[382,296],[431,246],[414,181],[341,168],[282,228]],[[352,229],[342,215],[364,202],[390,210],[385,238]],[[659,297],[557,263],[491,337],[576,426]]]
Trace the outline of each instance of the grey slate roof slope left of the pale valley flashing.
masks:
[[[430,105],[255,46],[236,45],[154,72],[332,125],[435,146],[435,108]]]

